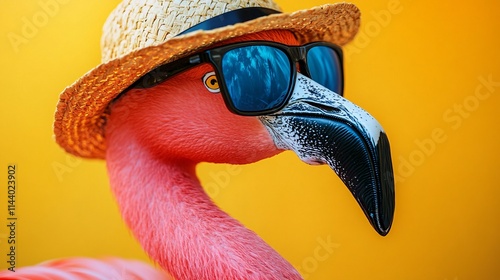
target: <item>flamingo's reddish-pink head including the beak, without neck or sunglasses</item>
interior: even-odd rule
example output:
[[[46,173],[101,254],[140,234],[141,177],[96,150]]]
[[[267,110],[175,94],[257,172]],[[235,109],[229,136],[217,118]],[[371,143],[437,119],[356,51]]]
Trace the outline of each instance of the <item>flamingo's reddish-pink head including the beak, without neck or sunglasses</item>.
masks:
[[[298,45],[288,31],[249,34],[220,45],[248,40]],[[387,137],[373,117],[300,73],[280,112],[237,115],[213,92],[213,72],[211,64],[201,64],[152,88],[131,89],[112,105],[107,134],[130,131],[127,137],[155,157],[193,163],[251,163],[293,150],[306,163],[328,164],[375,230],[388,233],[392,164]]]

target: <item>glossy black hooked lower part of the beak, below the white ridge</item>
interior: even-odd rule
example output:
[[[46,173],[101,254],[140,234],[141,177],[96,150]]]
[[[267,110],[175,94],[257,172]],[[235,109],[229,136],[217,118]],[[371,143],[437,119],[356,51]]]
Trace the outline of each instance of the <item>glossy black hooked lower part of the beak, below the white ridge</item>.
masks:
[[[282,115],[281,120],[278,123],[271,118],[266,123],[280,137],[288,137],[283,131],[290,129],[281,130],[283,127],[301,135],[293,145],[281,144],[303,160],[327,163],[350,190],[373,228],[386,236],[394,217],[394,176],[389,140],[383,130],[364,129],[367,124],[350,119],[308,114],[290,113]]]

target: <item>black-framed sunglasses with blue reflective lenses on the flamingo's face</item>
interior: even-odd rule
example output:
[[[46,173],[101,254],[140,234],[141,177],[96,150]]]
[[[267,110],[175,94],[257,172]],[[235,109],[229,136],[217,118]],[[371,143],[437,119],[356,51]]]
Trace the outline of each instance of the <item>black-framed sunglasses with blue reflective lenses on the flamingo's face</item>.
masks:
[[[181,58],[150,71],[131,88],[150,88],[202,63],[214,67],[217,85],[230,111],[259,116],[280,111],[292,95],[297,68],[342,95],[342,50],[328,42],[287,46],[268,41],[225,45]]]

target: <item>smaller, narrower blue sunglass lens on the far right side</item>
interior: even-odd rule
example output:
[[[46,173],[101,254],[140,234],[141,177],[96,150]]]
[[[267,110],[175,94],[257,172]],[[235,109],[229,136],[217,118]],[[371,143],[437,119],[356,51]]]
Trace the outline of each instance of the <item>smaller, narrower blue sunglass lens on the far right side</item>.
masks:
[[[311,79],[342,95],[342,69],[338,54],[326,46],[315,46],[307,52],[307,68]]]

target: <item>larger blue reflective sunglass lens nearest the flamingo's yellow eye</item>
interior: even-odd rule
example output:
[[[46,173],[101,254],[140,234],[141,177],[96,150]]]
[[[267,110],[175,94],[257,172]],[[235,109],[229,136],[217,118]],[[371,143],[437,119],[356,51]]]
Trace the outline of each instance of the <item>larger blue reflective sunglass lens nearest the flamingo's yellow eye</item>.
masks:
[[[252,113],[280,107],[291,85],[288,56],[270,46],[246,46],[230,50],[222,58],[222,75],[233,106]]]

